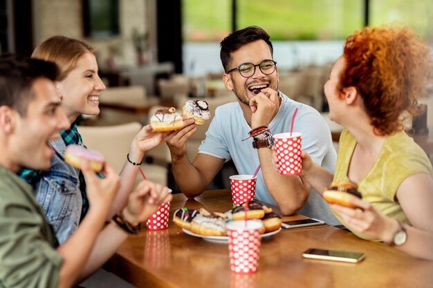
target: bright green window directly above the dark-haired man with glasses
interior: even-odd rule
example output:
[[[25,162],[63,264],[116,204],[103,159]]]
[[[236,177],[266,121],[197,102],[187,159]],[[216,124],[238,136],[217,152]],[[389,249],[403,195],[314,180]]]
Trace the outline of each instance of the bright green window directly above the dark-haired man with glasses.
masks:
[[[364,24],[363,0],[237,0],[238,27],[257,25],[271,39],[345,39]]]

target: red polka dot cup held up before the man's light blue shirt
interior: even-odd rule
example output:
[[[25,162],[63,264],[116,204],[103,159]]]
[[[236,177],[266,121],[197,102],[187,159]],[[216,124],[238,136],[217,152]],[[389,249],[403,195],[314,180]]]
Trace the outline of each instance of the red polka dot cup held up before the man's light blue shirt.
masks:
[[[279,133],[273,136],[279,173],[297,175],[302,171],[302,133]]]

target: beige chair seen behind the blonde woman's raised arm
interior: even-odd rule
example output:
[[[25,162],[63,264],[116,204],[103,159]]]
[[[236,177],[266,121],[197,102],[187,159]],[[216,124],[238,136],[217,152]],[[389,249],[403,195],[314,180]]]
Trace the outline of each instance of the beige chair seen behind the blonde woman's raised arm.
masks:
[[[88,148],[100,151],[113,169],[120,173],[126,162],[131,142],[141,128],[140,123],[131,122],[115,126],[78,126],[78,131],[82,135],[84,144]],[[148,180],[167,185],[167,166],[143,162],[140,167]],[[142,176],[138,173],[136,184],[140,180]]]

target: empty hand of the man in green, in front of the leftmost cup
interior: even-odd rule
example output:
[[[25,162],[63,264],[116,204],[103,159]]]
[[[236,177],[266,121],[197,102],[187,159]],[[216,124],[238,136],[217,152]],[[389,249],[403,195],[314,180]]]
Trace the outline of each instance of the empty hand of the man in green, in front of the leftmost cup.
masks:
[[[129,195],[127,207],[123,209],[125,218],[132,224],[144,222],[160,205],[172,200],[172,194],[166,186],[143,180]]]

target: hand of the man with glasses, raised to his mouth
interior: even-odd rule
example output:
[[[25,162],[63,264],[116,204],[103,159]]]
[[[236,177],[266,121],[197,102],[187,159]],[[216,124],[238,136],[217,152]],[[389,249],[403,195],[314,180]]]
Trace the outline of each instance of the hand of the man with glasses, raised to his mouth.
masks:
[[[268,126],[279,109],[278,92],[272,88],[261,89],[261,92],[250,99],[251,128]]]

